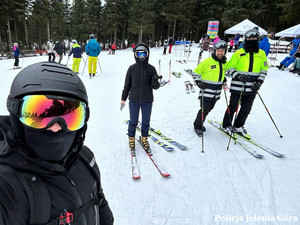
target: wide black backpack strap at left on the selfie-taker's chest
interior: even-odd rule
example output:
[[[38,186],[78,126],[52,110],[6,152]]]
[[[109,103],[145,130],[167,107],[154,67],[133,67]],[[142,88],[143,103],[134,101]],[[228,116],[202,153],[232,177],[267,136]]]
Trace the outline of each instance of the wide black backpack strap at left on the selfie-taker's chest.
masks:
[[[41,179],[31,173],[22,173],[20,180],[26,190],[30,206],[29,224],[44,224],[50,219],[51,199]]]

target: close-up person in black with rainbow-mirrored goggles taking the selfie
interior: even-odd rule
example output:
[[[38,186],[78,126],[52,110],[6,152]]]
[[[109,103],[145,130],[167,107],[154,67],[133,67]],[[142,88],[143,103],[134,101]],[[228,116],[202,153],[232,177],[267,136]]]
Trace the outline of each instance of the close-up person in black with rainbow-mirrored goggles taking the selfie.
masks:
[[[0,224],[112,225],[94,155],[89,102],[68,67],[42,62],[13,80],[0,117]]]

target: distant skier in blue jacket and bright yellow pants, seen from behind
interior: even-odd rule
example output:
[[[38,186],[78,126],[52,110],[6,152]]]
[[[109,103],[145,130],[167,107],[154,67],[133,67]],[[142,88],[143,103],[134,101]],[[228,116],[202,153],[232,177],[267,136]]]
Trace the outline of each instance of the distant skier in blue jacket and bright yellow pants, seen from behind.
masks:
[[[90,41],[85,46],[85,52],[89,56],[88,58],[88,72],[90,77],[94,77],[97,70],[97,60],[98,55],[101,52],[101,47],[96,41],[96,36],[94,34],[90,35]]]

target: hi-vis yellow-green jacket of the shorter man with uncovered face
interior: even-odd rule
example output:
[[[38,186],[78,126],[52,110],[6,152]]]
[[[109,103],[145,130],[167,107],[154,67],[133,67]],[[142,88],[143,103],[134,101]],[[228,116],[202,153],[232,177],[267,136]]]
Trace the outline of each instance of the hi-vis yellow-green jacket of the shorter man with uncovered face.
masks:
[[[209,57],[202,61],[193,72],[193,78],[206,84],[203,97],[206,101],[214,101],[220,99],[222,84],[227,68],[226,63],[221,63]],[[200,96],[202,91],[200,90]]]

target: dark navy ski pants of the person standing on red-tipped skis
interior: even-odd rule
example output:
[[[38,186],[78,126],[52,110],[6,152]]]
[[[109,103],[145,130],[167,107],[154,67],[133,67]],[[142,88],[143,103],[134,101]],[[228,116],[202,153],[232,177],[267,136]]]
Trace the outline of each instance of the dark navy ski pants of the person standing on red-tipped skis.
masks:
[[[140,109],[142,111],[142,136],[148,137],[152,102],[129,101],[130,122],[128,125],[128,136],[135,137],[136,126],[139,122]]]

